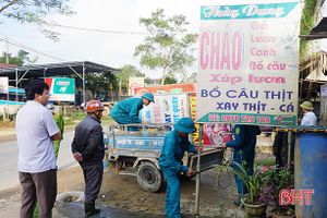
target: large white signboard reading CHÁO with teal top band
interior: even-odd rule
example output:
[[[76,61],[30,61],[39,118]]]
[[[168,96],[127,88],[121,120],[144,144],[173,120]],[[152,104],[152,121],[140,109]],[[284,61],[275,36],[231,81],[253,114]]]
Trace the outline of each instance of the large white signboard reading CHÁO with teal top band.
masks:
[[[299,0],[231,2],[201,7],[197,121],[296,124]]]

